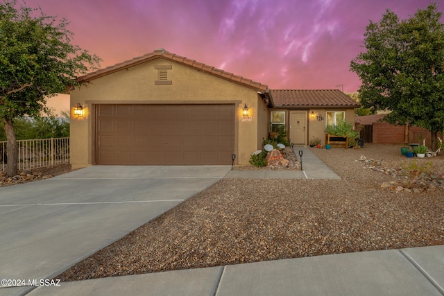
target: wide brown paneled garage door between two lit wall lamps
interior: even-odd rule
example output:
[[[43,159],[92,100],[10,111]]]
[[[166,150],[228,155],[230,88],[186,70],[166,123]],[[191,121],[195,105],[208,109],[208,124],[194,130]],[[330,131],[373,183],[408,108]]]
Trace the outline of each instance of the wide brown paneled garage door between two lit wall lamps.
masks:
[[[97,105],[97,164],[231,164],[234,104]]]

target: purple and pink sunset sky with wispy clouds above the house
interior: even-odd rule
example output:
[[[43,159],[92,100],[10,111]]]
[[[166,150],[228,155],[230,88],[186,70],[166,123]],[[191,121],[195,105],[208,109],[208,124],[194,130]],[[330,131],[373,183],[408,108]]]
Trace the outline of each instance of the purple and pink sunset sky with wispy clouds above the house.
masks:
[[[271,89],[344,92],[359,88],[349,67],[370,19],[432,2],[444,11],[444,0],[26,0],[66,17],[103,68],[162,47]]]

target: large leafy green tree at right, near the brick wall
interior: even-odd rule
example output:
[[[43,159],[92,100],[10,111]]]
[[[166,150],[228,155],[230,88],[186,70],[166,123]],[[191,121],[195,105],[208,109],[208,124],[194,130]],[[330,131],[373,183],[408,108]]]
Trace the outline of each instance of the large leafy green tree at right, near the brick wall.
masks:
[[[361,105],[391,110],[384,120],[411,124],[436,132],[444,130],[444,27],[436,4],[400,21],[386,10],[370,24],[350,69],[362,80]]]

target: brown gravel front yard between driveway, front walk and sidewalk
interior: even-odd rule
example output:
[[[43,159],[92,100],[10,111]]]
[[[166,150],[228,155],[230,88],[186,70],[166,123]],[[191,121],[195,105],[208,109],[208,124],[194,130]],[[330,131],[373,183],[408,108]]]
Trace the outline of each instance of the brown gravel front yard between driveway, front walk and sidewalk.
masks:
[[[415,159],[433,166],[414,193],[382,186],[405,180],[398,167],[410,159],[400,146],[309,149],[341,180],[223,179],[56,278],[444,244],[442,153]],[[361,155],[373,161],[360,161]]]

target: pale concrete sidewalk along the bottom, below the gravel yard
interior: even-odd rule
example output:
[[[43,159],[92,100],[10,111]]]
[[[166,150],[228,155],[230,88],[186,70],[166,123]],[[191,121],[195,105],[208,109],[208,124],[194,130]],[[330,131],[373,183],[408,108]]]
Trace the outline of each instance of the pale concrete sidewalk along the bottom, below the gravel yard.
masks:
[[[74,281],[29,295],[442,296],[443,254],[440,245],[263,261]]]

